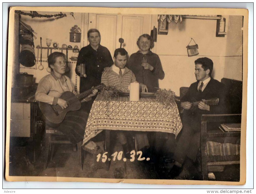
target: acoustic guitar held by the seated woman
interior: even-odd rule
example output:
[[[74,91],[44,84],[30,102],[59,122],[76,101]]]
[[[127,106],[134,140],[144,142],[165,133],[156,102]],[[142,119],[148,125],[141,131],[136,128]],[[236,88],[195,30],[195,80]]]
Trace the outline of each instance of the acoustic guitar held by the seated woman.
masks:
[[[67,101],[68,103],[67,108],[62,109],[58,104],[51,105],[44,102],[39,102],[39,108],[48,121],[55,124],[61,123],[65,118],[67,112],[77,111],[81,108],[80,99],[83,99],[86,96],[89,96],[90,94],[92,94],[94,89],[101,90],[103,86],[104,84],[101,83],[100,85],[90,90],[87,90],[85,92],[82,92],[79,95],[75,95],[73,94],[73,92],[69,92],[69,91],[63,92],[60,98]]]

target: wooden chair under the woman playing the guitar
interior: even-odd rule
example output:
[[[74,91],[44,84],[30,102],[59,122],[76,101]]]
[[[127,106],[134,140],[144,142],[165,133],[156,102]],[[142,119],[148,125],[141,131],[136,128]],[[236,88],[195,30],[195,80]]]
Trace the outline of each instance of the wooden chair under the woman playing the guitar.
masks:
[[[47,162],[49,159],[49,154],[51,154],[50,159],[52,160],[55,144],[72,144],[69,140],[58,140],[58,137],[65,137],[63,133],[56,130],[55,128],[51,128],[46,126],[46,134],[45,134],[45,151],[44,151],[44,169],[47,167]],[[83,161],[84,161],[84,150],[82,149],[82,141],[78,142],[76,144],[77,146],[77,152],[78,152],[78,160],[79,160],[79,166],[81,167],[81,170],[83,170]],[[74,151],[76,148],[74,148]]]

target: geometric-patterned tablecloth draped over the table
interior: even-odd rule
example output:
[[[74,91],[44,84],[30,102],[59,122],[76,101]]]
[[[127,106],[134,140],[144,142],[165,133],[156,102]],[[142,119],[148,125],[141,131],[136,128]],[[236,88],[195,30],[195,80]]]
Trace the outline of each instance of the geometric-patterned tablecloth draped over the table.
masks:
[[[128,97],[118,96],[107,101],[98,94],[86,124],[83,145],[104,129],[166,132],[177,136],[181,128],[176,104],[167,109],[155,98],[133,102]]]

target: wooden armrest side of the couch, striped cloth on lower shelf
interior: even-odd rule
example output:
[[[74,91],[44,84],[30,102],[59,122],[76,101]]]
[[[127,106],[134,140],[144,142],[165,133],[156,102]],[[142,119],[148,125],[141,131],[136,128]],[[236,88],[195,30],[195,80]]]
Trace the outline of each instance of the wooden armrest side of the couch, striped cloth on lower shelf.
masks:
[[[201,170],[203,180],[208,180],[209,166],[240,164],[241,132],[222,132],[218,126],[223,123],[241,123],[241,114],[202,115]],[[207,126],[208,124],[209,126]],[[229,140],[225,141],[225,138],[229,138]],[[229,151],[222,153],[222,149]],[[217,151],[210,153],[209,150]]]

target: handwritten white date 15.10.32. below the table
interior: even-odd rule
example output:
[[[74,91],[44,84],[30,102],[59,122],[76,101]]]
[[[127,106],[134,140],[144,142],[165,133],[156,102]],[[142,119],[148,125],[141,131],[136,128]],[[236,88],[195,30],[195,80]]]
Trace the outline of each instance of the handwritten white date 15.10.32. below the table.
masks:
[[[111,155],[111,156],[113,157],[112,159],[111,159],[111,158],[108,158],[107,154],[108,154],[107,151],[104,152],[104,153],[102,154],[102,156],[101,156],[101,154],[98,154],[98,155],[97,155],[97,162],[100,161],[100,158],[101,158],[101,157],[102,157],[102,159],[101,159],[102,162],[106,162],[107,160],[108,160],[108,161],[110,161],[110,160],[115,161],[116,159],[121,160],[122,157],[123,157],[123,151],[119,151],[119,152],[116,151],[115,153],[113,153],[113,154]],[[136,154],[135,150],[132,150],[132,151],[130,152],[130,154],[131,154],[131,159],[130,159],[130,161],[133,162],[133,161],[135,160],[135,154]],[[149,161],[149,160],[150,160],[150,158],[142,157],[142,151],[137,151],[137,155],[138,155],[138,161],[143,161],[143,160],[145,160],[145,159],[146,159],[146,161]],[[126,162],[127,159],[126,159],[126,158],[123,158],[123,161]]]

